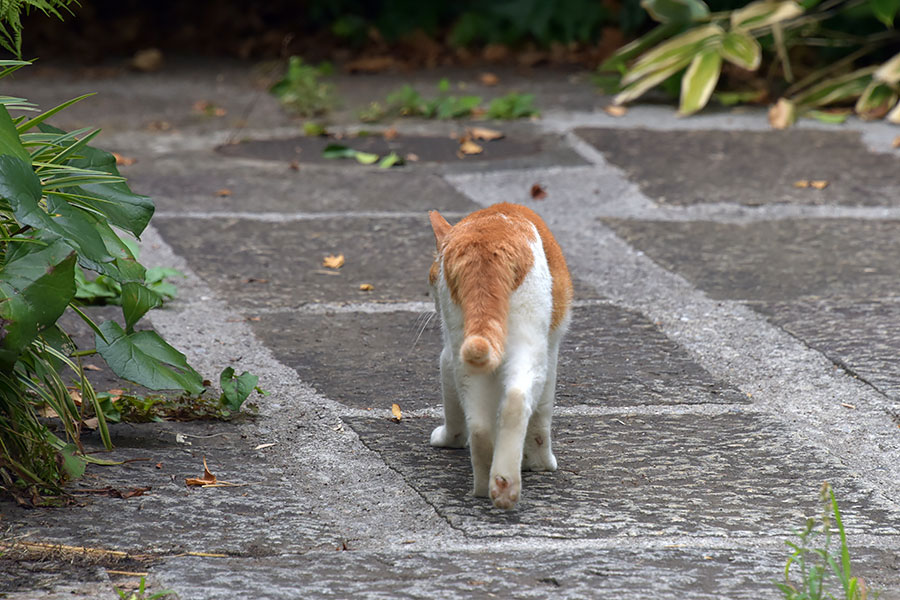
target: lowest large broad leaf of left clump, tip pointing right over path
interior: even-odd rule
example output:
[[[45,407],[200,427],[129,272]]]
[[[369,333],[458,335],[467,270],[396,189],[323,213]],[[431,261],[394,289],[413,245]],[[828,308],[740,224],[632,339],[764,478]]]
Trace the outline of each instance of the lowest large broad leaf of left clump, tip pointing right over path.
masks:
[[[200,375],[188,365],[184,355],[154,331],[126,334],[115,321],[100,325],[106,340],[95,336],[97,352],[113,372],[151,390],[203,391]]]

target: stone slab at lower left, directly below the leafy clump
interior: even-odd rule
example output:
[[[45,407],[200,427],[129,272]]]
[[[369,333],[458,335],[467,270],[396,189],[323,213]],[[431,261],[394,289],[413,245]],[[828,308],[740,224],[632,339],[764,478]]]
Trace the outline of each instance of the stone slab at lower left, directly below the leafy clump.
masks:
[[[112,425],[115,449],[98,456],[128,460],[88,465],[67,488],[77,505],[22,509],[0,502],[12,536],[33,541],[90,546],[137,554],[222,552],[270,556],[304,551],[327,539],[327,524],[299,502],[284,469],[266,460],[249,430],[222,422]],[[182,436],[176,441],[176,434]],[[99,448],[95,435],[83,436]],[[203,459],[220,480],[240,487],[188,487],[203,475]],[[80,494],[111,486],[120,492],[150,487],[140,496]]]

